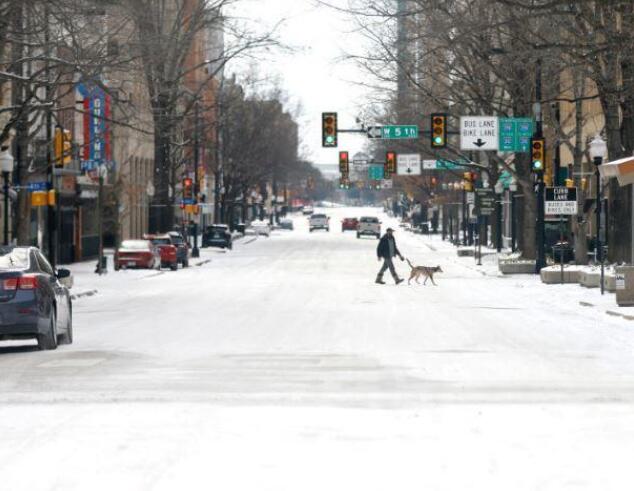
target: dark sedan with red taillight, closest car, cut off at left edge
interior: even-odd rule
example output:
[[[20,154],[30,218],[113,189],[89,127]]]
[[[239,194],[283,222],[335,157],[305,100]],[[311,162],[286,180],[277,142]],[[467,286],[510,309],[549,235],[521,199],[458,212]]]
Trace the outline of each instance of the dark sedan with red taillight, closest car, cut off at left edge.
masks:
[[[0,247],[0,340],[37,339],[40,349],[73,342],[70,293],[36,247]]]

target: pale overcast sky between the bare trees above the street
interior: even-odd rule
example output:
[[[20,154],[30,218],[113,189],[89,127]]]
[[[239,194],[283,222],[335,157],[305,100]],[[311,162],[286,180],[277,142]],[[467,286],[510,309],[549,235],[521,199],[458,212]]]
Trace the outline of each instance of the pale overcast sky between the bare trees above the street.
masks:
[[[365,103],[364,90],[351,82],[358,79],[358,69],[352,61],[341,61],[344,52],[359,52],[363,46],[351,19],[313,0],[243,0],[238,5],[238,15],[262,29],[285,19],[277,37],[296,49],[276,51],[259,69],[279,75],[291,99],[301,104],[300,138],[306,156],[317,164],[336,165],[339,150],[351,155],[361,150],[367,138],[360,135],[339,135],[338,149],[321,148],[321,113],[336,111],[340,128],[356,128],[355,117]]]

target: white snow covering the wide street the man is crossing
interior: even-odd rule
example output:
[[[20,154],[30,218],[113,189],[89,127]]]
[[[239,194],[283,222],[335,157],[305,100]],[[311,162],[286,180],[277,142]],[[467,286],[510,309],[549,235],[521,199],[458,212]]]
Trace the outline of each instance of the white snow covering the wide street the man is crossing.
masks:
[[[634,324],[403,231],[438,286],[375,285],[339,220],[378,211],[325,211],[176,273],[75,268],[75,344],[0,347],[0,489],[628,488]]]

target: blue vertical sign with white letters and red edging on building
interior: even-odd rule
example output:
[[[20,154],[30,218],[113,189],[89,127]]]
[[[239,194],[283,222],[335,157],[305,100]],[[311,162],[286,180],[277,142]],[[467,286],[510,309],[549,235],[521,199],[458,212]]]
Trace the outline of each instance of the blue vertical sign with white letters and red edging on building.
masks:
[[[93,171],[99,165],[112,161],[111,97],[95,84],[77,84],[77,91],[84,100],[84,142],[81,168]]]

